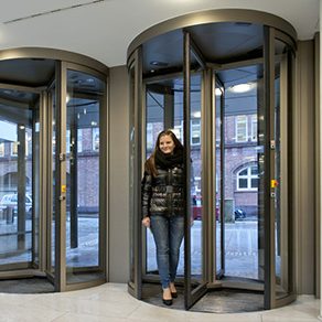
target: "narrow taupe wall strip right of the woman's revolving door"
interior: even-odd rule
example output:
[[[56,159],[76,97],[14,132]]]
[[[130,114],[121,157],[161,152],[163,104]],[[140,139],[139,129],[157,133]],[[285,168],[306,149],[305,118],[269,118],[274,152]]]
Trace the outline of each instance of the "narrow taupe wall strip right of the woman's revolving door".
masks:
[[[294,112],[293,160],[296,216],[297,286],[299,294],[314,293],[314,46],[313,41],[298,42],[297,105]]]

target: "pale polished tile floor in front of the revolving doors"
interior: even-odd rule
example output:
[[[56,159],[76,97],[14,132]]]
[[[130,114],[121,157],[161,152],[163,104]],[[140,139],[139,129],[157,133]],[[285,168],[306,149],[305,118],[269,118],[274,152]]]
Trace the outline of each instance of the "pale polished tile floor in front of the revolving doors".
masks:
[[[313,322],[319,321],[319,314],[320,300],[310,296],[301,296],[281,309],[219,314],[171,310],[138,301],[124,283],[65,293],[0,293],[0,321],[6,322]]]

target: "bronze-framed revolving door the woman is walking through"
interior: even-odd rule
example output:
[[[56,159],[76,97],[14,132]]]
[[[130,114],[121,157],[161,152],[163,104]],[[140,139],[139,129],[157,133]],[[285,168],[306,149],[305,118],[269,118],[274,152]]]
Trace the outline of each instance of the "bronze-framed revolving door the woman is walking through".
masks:
[[[180,17],[131,43],[129,292],[136,298],[159,280],[151,233],[140,223],[142,169],[158,133],[171,129],[186,158],[175,281],[184,308],[219,288],[261,292],[262,309],[296,299],[294,43],[286,21],[244,10]]]

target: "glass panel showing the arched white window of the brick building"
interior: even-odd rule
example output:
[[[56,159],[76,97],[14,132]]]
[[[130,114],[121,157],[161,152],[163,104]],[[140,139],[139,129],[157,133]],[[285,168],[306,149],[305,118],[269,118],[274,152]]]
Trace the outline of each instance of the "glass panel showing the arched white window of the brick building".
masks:
[[[225,84],[224,198],[221,203],[225,223],[221,248],[225,254],[225,276],[257,280],[258,163],[262,150],[257,120],[262,65],[227,69],[217,75]]]

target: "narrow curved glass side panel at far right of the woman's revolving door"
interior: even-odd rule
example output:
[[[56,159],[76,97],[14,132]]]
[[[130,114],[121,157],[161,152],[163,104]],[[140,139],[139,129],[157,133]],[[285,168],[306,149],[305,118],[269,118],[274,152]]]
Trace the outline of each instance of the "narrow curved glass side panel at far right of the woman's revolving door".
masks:
[[[293,53],[283,42],[275,40],[275,281],[276,299],[282,299],[293,291],[291,278],[292,236],[291,213],[288,208],[289,171],[288,162],[288,116],[289,96],[292,86]],[[290,167],[290,165],[289,165]]]

